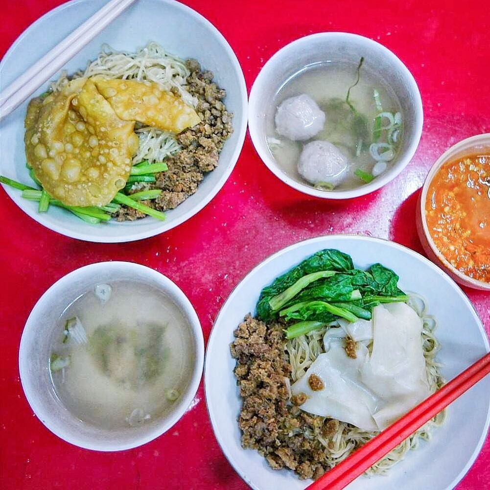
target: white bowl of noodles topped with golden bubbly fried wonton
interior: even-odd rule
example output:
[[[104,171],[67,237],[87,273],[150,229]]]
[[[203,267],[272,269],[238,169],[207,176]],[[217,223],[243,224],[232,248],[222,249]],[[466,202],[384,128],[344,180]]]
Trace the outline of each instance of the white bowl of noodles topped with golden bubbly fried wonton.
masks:
[[[1,62],[2,86],[102,3],[73,0],[32,24]],[[238,60],[212,24],[177,2],[138,1],[1,122],[0,181],[58,233],[147,238],[219,192],[243,145],[246,103]]]

